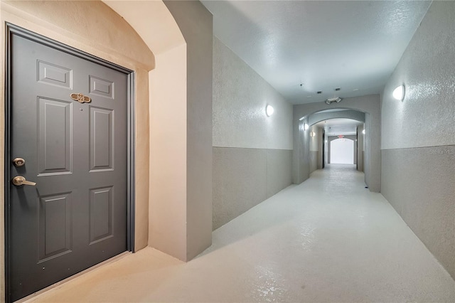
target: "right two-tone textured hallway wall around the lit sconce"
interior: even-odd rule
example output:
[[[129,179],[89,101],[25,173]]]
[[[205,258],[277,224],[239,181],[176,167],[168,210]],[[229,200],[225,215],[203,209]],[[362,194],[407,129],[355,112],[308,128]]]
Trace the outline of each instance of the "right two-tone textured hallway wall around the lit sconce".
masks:
[[[385,86],[381,192],[455,278],[454,16],[432,3]]]

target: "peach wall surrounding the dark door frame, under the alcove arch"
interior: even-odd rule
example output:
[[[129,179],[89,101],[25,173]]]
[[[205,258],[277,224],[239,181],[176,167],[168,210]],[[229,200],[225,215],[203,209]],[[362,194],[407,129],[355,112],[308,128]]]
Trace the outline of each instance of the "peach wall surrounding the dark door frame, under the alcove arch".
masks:
[[[149,73],[154,54],[134,29],[100,1],[1,1],[1,31],[13,23],[136,72],[136,249],[147,244],[149,203]],[[85,16],[80,22],[77,16]],[[4,70],[4,35],[0,63]],[[0,110],[4,112],[4,72],[0,75]],[[4,115],[0,116],[4,141]],[[4,146],[0,149],[4,155]],[[145,164],[145,165],[144,165]],[[4,166],[3,161],[0,162]],[[4,167],[2,167],[4,169]],[[3,174],[0,179],[3,179]],[[3,181],[3,180],[1,180]],[[4,218],[4,188],[0,189],[0,216]],[[4,229],[0,229],[0,298],[4,298]]]

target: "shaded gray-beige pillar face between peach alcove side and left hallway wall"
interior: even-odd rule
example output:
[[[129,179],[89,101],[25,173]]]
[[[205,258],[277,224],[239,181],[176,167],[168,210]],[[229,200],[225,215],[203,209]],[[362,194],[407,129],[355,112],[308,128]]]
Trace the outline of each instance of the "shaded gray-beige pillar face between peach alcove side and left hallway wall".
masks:
[[[164,1],[186,41],[186,259],[212,244],[213,16],[199,1]]]

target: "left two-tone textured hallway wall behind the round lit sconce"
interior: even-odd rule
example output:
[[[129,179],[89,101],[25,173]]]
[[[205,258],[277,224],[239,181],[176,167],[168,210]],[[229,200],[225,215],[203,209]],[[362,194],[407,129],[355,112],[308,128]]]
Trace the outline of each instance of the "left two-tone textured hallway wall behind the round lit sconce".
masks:
[[[292,105],[214,37],[213,230],[289,186],[291,156]]]

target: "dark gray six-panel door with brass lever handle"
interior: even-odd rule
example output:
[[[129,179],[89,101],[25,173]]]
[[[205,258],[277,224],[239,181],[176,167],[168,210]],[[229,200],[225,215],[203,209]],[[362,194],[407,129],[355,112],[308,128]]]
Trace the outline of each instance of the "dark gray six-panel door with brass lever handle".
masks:
[[[27,35],[9,44],[14,301],[127,250],[129,75]]]

